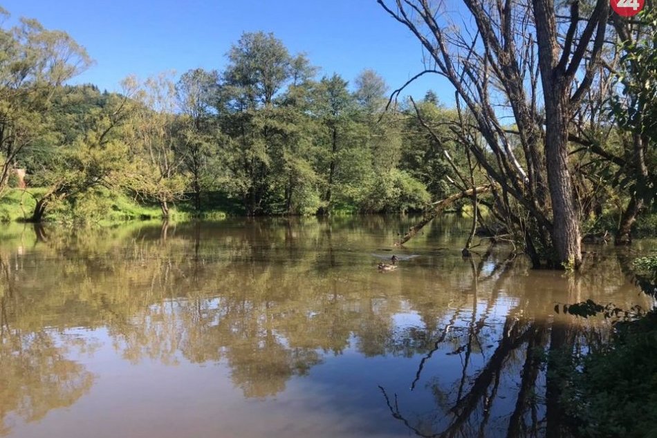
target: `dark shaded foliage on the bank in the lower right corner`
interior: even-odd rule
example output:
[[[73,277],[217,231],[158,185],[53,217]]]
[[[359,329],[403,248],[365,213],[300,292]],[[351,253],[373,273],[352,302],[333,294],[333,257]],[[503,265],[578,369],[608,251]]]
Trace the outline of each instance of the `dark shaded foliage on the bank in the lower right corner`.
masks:
[[[632,263],[636,284],[646,294],[657,292],[657,256]],[[555,307],[559,312],[559,305]],[[657,308],[620,310],[587,300],[564,305],[576,316],[613,318],[611,339],[591,345],[586,356],[560,370],[561,402],[568,423],[582,437],[652,437],[657,434]],[[564,354],[566,359],[568,354]]]

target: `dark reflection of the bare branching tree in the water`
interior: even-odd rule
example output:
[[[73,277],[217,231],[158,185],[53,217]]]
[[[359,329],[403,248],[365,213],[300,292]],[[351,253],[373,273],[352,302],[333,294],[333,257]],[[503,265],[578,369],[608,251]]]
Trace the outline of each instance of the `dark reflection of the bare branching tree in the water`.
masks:
[[[532,289],[524,287],[526,294],[518,296],[503,322],[489,323],[499,307],[499,292],[509,287],[508,282],[518,281],[517,272],[511,275],[512,256],[495,263],[489,274],[482,274],[489,258],[490,251],[481,256],[478,265],[470,258],[471,307],[456,307],[445,318],[447,323],[432,334],[437,339],[418,361],[409,392],[391,394],[384,385],[379,386],[385,404],[394,419],[421,437],[569,436],[559,405],[559,390],[564,385],[559,374],[565,372],[564,362],[572,352],[583,354],[592,340],[600,343],[609,322],[584,324],[568,317],[546,317],[540,312],[531,317],[528,303],[536,297]],[[597,261],[609,267],[609,260]],[[616,274],[617,269],[613,272]],[[563,287],[568,303],[580,301],[582,283],[590,283],[586,276],[564,276],[559,280],[555,289]],[[492,286],[484,287],[487,283]],[[484,288],[490,295],[482,303],[478,292]],[[412,399],[409,394],[418,388],[427,362],[443,360],[441,354],[459,356],[460,378],[449,381],[438,375],[424,379],[424,389],[434,394],[435,408],[422,406],[417,410],[415,403],[405,409],[400,397]],[[481,355],[479,366],[472,365],[472,354]]]

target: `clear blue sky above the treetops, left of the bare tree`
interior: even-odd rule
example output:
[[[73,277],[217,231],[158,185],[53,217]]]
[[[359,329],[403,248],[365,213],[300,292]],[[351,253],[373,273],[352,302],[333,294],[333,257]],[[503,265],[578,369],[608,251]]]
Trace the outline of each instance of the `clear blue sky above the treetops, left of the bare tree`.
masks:
[[[350,82],[364,68],[398,88],[423,68],[420,44],[375,0],[4,0],[12,15],[68,32],[95,66],[73,83],[119,89],[130,74],[223,69],[225,53],[242,32],[273,32],[290,53],[305,52],[322,68]],[[443,102],[453,90],[437,76],[407,88],[423,97],[433,88]]]

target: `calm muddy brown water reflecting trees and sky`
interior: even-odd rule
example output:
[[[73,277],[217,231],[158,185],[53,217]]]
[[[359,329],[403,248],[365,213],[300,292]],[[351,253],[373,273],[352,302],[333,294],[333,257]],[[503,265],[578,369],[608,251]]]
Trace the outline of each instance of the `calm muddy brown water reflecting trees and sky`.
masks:
[[[613,247],[575,276],[504,245],[464,259],[450,216],[392,247],[410,224],[3,227],[0,436],[540,437],[559,419],[536,352],[609,327],[555,304],[652,305]]]

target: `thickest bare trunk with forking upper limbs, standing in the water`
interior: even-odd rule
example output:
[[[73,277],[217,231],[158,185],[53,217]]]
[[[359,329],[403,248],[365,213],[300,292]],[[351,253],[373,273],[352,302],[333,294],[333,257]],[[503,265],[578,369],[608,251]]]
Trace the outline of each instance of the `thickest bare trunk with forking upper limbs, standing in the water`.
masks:
[[[573,199],[573,181],[568,171],[568,123],[572,108],[591,86],[598,63],[604,30],[609,15],[609,1],[598,0],[591,18],[573,48],[580,17],[580,3],[571,3],[571,23],[563,48],[557,42],[557,23],[553,0],[533,0],[539,68],[545,102],[545,155],[548,186],[552,201],[553,228],[551,236],[557,262],[579,269],[582,265],[580,215]],[[595,30],[597,29],[597,32]],[[591,57],[584,78],[571,96],[571,84],[595,32]]]

